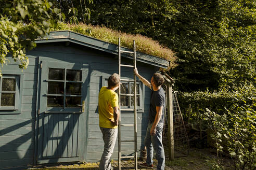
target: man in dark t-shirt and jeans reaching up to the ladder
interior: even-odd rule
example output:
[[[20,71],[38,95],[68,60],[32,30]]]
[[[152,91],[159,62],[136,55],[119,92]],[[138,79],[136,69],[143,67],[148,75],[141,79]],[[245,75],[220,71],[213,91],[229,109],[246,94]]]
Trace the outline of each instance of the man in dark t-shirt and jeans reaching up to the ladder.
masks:
[[[153,168],[153,150],[157,154],[157,169],[164,170],[164,150],[162,144],[163,117],[165,106],[165,94],[161,87],[164,83],[163,76],[159,73],[153,74],[150,82],[138,74],[137,68],[134,69],[136,76],[152,90],[150,97],[149,122],[146,136],[144,139],[147,148],[147,160],[141,167]]]

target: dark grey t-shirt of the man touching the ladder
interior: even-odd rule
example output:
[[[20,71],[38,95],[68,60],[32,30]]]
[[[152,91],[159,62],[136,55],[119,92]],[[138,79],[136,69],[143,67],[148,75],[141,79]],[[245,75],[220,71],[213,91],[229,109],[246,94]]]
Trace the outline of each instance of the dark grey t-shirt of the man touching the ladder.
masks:
[[[157,114],[157,106],[163,106],[163,114],[159,121],[159,123],[163,123],[164,118],[164,110],[165,110],[165,94],[164,90],[161,87],[158,91],[151,92],[150,97],[150,108],[149,108],[149,122],[152,123],[155,121],[155,117]]]

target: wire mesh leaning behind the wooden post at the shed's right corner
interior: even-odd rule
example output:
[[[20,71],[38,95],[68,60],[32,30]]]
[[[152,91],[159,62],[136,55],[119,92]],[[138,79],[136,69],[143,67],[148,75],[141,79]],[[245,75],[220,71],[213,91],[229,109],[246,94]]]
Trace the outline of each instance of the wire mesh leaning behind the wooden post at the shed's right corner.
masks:
[[[189,140],[183,122],[180,106],[178,106],[177,92],[173,92],[173,131],[174,131],[174,157],[186,157],[189,150]],[[167,113],[167,109],[165,110]],[[168,140],[168,114],[165,114],[164,130],[163,130],[163,145],[165,147],[165,155],[168,155],[169,140]]]

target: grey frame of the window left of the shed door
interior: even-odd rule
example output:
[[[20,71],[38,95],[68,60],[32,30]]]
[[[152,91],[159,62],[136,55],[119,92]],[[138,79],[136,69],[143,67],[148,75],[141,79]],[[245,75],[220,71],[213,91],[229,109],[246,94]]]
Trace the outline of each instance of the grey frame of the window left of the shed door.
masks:
[[[18,71],[5,70],[2,72],[3,76],[0,78],[0,115],[3,114],[21,114],[21,99],[23,91],[23,79],[24,73]],[[2,83],[3,78],[15,79],[15,105],[14,106],[1,106],[1,96],[2,96]]]

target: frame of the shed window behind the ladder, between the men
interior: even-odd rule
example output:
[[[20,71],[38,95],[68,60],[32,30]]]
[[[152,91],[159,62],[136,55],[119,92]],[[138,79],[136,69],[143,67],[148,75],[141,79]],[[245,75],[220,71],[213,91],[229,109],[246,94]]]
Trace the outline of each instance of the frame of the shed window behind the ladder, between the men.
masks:
[[[108,86],[108,77],[101,77],[102,81],[102,87],[103,86]],[[122,82],[129,82],[129,87],[131,91],[131,83],[134,82],[133,79],[127,78],[127,77],[122,77],[121,79],[127,79],[129,81],[121,81]],[[137,112],[144,112],[144,105],[145,105],[145,84],[142,83],[140,80],[136,80],[136,83],[139,84],[139,104],[140,106],[137,106]],[[131,94],[131,93],[130,93]],[[122,95],[121,95],[122,96]],[[123,95],[124,96],[124,95]],[[138,95],[137,95],[138,96]],[[134,97],[134,96],[131,96]],[[131,101],[129,100],[129,104]],[[120,106],[122,109],[133,109],[134,106]],[[133,111],[122,111],[122,112],[133,112]]]

